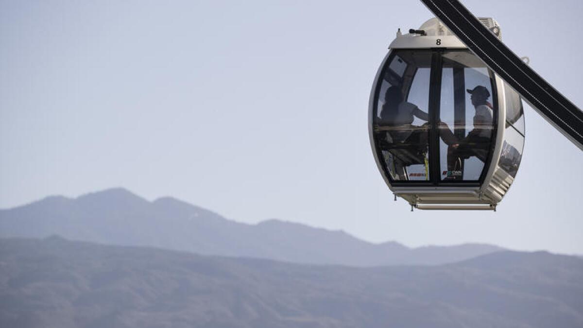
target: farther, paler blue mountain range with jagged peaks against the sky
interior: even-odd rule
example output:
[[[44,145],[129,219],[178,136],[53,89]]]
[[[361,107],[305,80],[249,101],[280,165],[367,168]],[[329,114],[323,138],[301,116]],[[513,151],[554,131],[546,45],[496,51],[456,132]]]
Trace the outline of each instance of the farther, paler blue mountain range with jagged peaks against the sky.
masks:
[[[0,238],[51,235],[110,245],[347,266],[436,265],[501,250],[477,244],[414,249],[396,242],[374,244],[343,231],[275,219],[242,224],[171,197],[150,202],[125,189],[74,199],[52,196],[0,210]]]

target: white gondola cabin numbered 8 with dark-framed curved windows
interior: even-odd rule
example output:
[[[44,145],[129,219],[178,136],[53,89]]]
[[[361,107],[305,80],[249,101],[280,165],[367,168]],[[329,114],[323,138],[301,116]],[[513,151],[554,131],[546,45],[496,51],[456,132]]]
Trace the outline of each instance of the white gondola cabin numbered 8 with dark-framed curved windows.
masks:
[[[521,97],[436,18],[397,33],[368,125],[382,177],[412,209],[495,210],[522,158]]]

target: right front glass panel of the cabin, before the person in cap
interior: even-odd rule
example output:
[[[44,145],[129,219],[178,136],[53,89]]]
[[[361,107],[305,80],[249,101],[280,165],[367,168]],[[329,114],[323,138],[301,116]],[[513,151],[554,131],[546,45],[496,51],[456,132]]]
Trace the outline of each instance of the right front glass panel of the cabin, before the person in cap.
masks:
[[[496,118],[491,76],[467,51],[444,53],[438,123],[442,181],[477,181],[482,175]]]

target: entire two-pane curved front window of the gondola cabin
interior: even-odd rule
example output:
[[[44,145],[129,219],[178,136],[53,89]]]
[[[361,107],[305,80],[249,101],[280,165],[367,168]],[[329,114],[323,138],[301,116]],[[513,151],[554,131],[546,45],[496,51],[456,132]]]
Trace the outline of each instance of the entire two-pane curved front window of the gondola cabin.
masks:
[[[394,183],[478,183],[497,119],[493,73],[465,50],[395,50],[375,90],[377,158]]]

